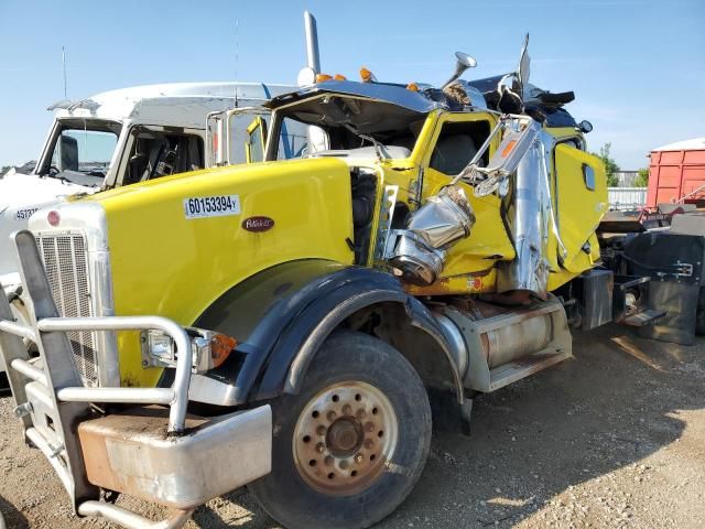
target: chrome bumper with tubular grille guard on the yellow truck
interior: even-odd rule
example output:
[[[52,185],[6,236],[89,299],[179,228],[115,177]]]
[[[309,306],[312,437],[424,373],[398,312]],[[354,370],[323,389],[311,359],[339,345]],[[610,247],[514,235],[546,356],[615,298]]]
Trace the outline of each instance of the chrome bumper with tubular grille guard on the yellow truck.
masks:
[[[186,415],[188,355],[180,355],[171,388],[84,387],[67,331],[161,330],[178,350],[191,350],[188,336],[159,316],[58,317],[34,237],[20,231],[14,241],[34,317],[32,325],[15,323],[0,285],[0,356],[25,435],[54,467],[76,512],[127,528],[178,528],[197,506],[271,471],[269,406],[218,418]],[[39,358],[29,358],[23,338],[37,345]],[[100,415],[91,404],[104,403],[135,407]],[[173,514],[153,522],[99,501],[101,488]]]

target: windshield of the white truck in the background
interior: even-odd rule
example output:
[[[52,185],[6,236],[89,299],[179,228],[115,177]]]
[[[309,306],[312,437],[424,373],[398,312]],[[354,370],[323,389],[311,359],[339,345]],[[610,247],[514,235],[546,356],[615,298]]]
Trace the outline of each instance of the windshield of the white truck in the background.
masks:
[[[121,126],[98,120],[63,120],[53,138],[51,156],[40,174],[75,184],[102,184]]]

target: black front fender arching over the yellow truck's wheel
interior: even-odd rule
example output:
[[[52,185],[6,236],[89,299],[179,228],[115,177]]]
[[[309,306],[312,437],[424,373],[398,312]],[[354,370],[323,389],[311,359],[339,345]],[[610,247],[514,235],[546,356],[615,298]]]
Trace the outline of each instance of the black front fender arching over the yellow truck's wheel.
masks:
[[[194,326],[228,334],[239,344],[236,354],[205,376],[234,386],[231,404],[295,393],[326,337],[355,312],[384,302],[401,304],[410,323],[443,349],[462,402],[451,345],[429,309],[389,273],[323,259],[276,264],[213,303]]]

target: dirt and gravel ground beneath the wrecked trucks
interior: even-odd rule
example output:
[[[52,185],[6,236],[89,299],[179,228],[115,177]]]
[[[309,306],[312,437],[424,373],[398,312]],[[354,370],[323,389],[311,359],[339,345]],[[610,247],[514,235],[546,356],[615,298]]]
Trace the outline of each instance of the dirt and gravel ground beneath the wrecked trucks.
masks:
[[[435,435],[415,489],[377,528],[705,527],[705,339],[684,347],[608,326],[577,334],[574,353],[476,399],[471,436]],[[0,399],[8,527],[107,527],[70,517],[11,410]],[[242,489],[198,509],[187,527],[279,526]]]

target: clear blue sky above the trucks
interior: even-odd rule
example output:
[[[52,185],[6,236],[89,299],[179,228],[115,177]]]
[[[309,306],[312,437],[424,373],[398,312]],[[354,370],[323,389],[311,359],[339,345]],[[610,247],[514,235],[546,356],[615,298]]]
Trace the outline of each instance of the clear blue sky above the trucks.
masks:
[[[326,73],[438,84],[465,51],[465,78],[513,69],[531,34],[531,80],[575,90],[592,150],[622,169],[651,148],[705,136],[705,0],[223,1],[0,0],[0,165],[35,159],[63,98],[149,83],[295,83],[302,13],[318,21]],[[238,26],[236,62],[236,21]],[[237,64],[236,64],[237,63]]]

